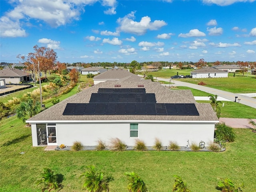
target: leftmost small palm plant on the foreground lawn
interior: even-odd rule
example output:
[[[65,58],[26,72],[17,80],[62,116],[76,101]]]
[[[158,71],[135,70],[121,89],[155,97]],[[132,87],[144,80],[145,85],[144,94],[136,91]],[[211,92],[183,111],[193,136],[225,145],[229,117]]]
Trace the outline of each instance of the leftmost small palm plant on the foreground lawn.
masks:
[[[37,181],[37,185],[42,185],[42,192],[46,189],[50,192],[52,189],[58,189],[60,184],[58,183],[58,176],[54,174],[49,168],[44,168],[41,174],[40,180]]]

